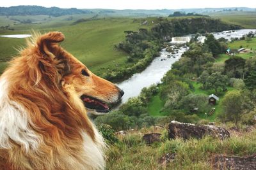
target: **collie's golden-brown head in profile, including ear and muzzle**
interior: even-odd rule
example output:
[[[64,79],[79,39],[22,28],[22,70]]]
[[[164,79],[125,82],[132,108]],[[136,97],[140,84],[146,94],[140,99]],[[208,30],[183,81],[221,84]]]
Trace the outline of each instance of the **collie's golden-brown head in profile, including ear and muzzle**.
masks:
[[[39,76],[35,83],[44,78],[46,82],[54,84],[52,87],[60,87],[64,94],[71,95],[73,103],[83,102],[88,113],[108,113],[108,104],[118,102],[124,92],[93,74],[76,57],[63,50],[58,45],[63,40],[61,32],[49,32],[35,39],[34,50],[40,56]]]

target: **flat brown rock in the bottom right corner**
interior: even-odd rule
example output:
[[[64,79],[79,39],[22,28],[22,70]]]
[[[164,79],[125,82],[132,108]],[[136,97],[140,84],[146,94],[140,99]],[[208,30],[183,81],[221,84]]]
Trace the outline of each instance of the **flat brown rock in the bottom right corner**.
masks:
[[[225,155],[214,155],[213,169],[251,170],[256,169],[256,154],[247,157],[231,157]]]

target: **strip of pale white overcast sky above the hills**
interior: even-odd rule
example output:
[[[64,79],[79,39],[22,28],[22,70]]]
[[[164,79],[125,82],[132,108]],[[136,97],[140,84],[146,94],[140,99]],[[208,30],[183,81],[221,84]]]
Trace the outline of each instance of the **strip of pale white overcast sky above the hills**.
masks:
[[[0,6],[39,5],[60,8],[180,9],[180,8],[256,8],[256,0],[2,0]]]

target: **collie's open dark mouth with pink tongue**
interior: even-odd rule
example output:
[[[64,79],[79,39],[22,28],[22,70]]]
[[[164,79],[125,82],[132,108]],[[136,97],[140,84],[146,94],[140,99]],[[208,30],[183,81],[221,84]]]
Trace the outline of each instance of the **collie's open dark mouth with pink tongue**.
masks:
[[[108,113],[109,112],[109,106],[106,103],[104,103],[103,101],[96,99],[95,97],[83,95],[83,96],[81,96],[81,100],[83,101],[84,106],[88,110],[93,110],[98,113]]]

